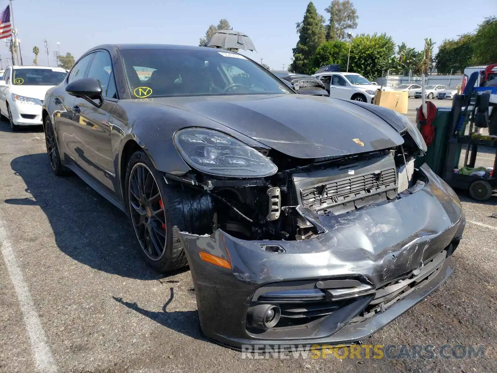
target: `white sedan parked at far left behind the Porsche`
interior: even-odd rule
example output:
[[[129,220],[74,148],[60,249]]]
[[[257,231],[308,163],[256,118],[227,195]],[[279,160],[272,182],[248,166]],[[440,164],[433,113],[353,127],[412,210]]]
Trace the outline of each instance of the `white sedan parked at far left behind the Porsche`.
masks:
[[[42,125],[41,108],[47,91],[62,83],[67,70],[45,66],[9,66],[0,80],[0,114],[13,131]]]

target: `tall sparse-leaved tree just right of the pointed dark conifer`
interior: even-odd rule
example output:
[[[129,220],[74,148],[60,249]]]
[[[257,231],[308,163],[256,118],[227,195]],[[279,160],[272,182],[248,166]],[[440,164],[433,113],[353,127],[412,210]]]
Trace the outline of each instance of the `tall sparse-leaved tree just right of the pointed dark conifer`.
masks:
[[[345,40],[347,30],[357,28],[357,11],[349,0],[333,0],[325,9],[330,14],[326,40]]]

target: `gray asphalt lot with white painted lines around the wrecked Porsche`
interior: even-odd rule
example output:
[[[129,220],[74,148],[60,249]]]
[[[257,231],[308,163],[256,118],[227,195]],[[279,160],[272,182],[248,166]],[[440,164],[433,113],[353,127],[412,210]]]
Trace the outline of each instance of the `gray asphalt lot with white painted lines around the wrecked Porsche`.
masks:
[[[483,358],[249,359],[202,337],[187,270],[150,270],[122,212],[52,174],[41,129],[2,121],[0,372],[495,372],[497,195],[459,194],[468,223],[454,275],[363,343],[484,346]]]

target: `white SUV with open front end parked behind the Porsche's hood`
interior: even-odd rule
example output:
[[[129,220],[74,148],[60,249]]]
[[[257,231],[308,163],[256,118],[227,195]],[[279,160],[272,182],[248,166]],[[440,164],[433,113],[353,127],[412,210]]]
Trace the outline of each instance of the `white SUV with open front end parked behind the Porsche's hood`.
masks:
[[[360,74],[323,72],[314,74],[313,77],[321,80],[330,97],[345,98],[371,103],[376,90],[379,89]]]

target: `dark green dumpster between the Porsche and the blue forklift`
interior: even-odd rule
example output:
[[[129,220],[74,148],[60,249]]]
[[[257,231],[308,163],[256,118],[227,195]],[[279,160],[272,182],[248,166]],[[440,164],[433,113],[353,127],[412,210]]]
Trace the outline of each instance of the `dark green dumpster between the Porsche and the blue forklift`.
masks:
[[[419,108],[416,109],[416,113]],[[419,168],[423,163],[426,163],[435,174],[442,177],[443,168],[445,165],[447,157],[447,144],[449,139],[450,131],[450,119],[451,119],[451,107],[437,107],[436,117],[432,124],[435,127],[435,139],[428,146],[428,150],[424,157],[419,157],[414,163],[414,167]],[[464,129],[466,127],[467,120],[463,124],[463,128],[460,131],[460,136],[464,136]],[[418,129],[421,129],[421,124],[417,121],[416,115],[416,125]],[[459,145],[458,151],[454,160],[450,163],[451,167],[459,165],[459,158],[461,156],[461,147]]]

